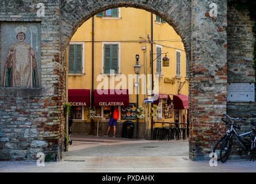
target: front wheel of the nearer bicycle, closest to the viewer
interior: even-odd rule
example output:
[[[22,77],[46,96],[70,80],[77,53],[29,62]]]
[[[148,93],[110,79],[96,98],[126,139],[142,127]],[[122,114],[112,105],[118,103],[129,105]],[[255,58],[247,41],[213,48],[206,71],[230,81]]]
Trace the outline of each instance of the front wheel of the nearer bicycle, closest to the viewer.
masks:
[[[233,144],[233,136],[226,136],[221,144],[220,148],[220,161],[225,163],[230,156],[230,151]]]

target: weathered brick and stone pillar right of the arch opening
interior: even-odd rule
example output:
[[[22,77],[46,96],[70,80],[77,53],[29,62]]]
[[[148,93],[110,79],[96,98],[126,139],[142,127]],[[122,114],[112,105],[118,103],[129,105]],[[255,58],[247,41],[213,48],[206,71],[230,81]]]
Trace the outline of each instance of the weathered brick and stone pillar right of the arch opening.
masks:
[[[192,160],[209,157],[224,133],[221,116],[227,98],[227,1],[192,0],[192,63],[190,66],[190,150]]]

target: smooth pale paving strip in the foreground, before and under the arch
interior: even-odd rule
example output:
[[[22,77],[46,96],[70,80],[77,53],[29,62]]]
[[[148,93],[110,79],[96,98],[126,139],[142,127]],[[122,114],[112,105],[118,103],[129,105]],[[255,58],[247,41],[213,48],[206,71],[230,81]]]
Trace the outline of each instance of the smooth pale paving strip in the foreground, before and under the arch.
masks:
[[[256,172],[255,162],[228,161],[210,167],[208,162],[192,162],[181,156],[69,157],[58,163],[1,162],[0,172],[21,173],[197,173]]]

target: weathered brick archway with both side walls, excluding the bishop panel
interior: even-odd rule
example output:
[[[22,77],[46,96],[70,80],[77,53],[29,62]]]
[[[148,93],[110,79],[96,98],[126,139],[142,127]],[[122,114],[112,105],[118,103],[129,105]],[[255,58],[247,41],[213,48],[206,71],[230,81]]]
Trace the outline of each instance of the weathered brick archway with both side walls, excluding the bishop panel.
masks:
[[[208,158],[213,141],[223,133],[220,117],[226,113],[227,0],[215,0],[216,17],[210,16],[210,0],[47,1],[43,17],[37,16],[38,3],[41,2],[3,0],[0,6],[0,26],[3,21],[40,22],[42,68],[39,89],[0,88],[0,136],[7,142],[14,141],[0,144],[0,159],[36,159],[40,151],[54,155],[55,160],[62,158],[66,46],[91,16],[120,6],[158,14],[181,36],[190,56],[190,159]]]

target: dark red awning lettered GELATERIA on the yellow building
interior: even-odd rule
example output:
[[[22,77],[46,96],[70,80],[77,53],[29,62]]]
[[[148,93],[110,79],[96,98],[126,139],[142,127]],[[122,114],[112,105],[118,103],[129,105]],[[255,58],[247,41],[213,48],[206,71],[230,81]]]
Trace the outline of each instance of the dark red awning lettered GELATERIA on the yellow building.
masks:
[[[129,106],[129,91],[94,90],[94,106]]]

